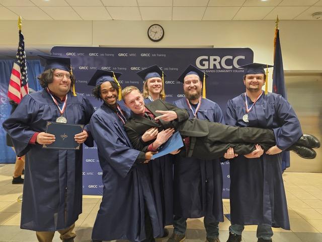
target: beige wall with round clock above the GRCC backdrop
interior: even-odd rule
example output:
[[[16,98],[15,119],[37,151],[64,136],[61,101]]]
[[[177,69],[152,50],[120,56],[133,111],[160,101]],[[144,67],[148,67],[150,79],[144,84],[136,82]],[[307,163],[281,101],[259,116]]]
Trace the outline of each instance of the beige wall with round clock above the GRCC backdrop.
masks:
[[[147,38],[147,28],[162,25],[165,37]],[[250,47],[254,60],[272,63],[274,21],[24,21],[26,44],[82,46]],[[322,72],[322,21],[280,21],[285,70]],[[0,21],[0,48],[17,46],[16,21]],[[27,47],[28,47],[27,46]]]

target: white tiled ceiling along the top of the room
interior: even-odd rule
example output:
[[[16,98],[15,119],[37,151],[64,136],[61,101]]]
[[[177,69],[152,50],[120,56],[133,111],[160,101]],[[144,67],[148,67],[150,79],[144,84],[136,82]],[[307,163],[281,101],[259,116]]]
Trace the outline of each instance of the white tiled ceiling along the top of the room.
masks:
[[[313,20],[322,0],[0,0],[0,20]]]

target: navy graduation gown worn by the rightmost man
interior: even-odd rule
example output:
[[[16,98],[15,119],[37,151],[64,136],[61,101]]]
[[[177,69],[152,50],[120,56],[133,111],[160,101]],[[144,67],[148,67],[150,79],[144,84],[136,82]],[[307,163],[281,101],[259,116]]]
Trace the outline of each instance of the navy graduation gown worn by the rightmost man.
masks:
[[[248,98],[248,97],[247,97]],[[248,98],[251,106],[253,103]],[[246,114],[245,94],[228,101],[226,124],[239,127],[273,129],[276,145],[284,150],[302,135],[299,120],[291,105],[274,93],[262,95]],[[232,224],[267,224],[290,229],[284,184],[282,153],[230,160],[230,213]]]

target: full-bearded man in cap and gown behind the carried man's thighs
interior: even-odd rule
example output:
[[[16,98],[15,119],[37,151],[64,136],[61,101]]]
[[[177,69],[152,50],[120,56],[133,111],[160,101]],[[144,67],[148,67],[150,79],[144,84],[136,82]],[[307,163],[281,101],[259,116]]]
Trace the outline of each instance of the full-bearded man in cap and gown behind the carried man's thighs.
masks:
[[[190,65],[179,77],[185,96],[174,102],[199,118],[224,124],[219,105],[206,99],[207,74]],[[202,83],[203,82],[203,83]],[[201,90],[203,95],[201,96]],[[222,211],[222,171],[219,159],[202,160],[176,156],[174,163],[174,233],[168,242],[182,241],[187,218],[204,217],[207,241],[219,241]]]

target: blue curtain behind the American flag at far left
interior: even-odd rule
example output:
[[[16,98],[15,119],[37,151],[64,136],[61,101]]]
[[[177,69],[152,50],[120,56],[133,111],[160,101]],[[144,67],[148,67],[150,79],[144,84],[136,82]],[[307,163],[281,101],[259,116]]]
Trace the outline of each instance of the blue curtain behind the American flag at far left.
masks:
[[[0,163],[15,163],[16,161],[15,152],[6,144],[6,132],[2,127],[11,111],[7,93],[13,66],[14,60],[0,60]],[[28,85],[35,91],[41,89],[37,77],[42,70],[39,60],[27,61]]]

